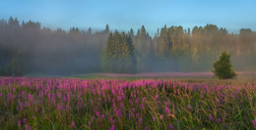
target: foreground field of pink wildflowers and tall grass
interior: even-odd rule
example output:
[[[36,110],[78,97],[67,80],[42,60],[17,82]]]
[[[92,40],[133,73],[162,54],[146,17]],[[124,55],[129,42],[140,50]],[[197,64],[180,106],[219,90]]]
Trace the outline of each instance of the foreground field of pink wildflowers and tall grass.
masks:
[[[255,129],[256,86],[0,78],[0,129]]]

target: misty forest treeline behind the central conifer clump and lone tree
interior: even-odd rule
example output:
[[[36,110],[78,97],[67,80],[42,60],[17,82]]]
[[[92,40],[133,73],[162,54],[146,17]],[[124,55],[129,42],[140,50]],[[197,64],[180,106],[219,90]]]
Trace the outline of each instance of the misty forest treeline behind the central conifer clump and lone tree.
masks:
[[[67,32],[41,27],[39,22],[2,20],[1,75],[101,72],[100,56],[110,32],[108,25],[102,31],[72,27]],[[214,24],[195,26],[192,30],[164,25],[154,37],[145,26],[135,33],[131,29],[124,35],[132,40],[137,72],[210,71],[223,51],[231,53],[235,70],[256,70],[256,33],[251,29],[230,34]]]

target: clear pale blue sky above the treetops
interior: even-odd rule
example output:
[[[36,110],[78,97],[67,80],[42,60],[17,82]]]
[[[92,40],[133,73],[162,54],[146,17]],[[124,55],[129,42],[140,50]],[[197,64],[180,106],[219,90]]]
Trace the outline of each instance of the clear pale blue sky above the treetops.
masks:
[[[217,24],[228,32],[256,30],[256,0],[0,0],[0,19],[40,22],[52,29],[137,30],[153,35],[164,24]]]

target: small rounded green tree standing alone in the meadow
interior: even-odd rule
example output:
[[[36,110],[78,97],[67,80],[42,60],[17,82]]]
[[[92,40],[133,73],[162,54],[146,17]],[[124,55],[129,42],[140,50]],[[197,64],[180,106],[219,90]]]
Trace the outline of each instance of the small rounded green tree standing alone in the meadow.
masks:
[[[214,65],[213,72],[215,73],[215,76],[218,76],[220,79],[227,79],[227,78],[234,78],[236,73],[232,69],[231,61],[230,61],[231,55],[223,52],[222,55],[219,57],[219,60],[217,60]]]

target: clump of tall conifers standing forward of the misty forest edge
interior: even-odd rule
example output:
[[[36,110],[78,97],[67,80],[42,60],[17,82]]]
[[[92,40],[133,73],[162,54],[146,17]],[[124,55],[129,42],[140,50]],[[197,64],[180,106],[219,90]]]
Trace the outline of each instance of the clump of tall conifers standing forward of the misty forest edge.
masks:
[[[134,73],[136,59],[130,35],[110,33],[102,53],[102,67],[106,72]]]

